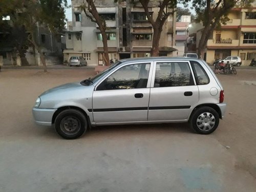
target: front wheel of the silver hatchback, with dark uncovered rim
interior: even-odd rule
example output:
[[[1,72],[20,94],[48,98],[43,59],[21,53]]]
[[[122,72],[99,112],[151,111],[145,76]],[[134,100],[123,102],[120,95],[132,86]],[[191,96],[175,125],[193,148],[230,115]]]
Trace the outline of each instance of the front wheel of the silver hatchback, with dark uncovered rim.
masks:
[[[55,130],[65,139],[76,139],[87,131],[87,119],[78,110],[64,110],[55,119]]]

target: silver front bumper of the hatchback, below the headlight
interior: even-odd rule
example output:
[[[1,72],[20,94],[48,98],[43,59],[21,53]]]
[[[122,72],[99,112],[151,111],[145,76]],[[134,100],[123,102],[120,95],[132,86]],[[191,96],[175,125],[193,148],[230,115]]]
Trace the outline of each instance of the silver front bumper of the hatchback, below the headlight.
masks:
[[[32,113],[36,124],[51,126],[52,117],[56,111],[56,109],[33,108]]]

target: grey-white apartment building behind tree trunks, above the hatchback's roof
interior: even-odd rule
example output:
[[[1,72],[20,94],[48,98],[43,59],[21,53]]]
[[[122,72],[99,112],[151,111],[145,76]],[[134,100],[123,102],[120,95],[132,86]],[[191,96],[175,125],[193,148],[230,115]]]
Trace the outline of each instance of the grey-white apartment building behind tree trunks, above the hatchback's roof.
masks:
[[[63,51],[64,60],[71,56],[83,56],[88,65],[104,65],[102,36],[97,24],[91,22],[79,9],[82,0],[72,1],[72,24],[66,31],[67,49]],[[106,21],[108,48],[110,59],[151,56],[154,30],[144,13],[142,6],[135,6],[130,0],[95,1],[98,13]],[[156,19],[157,2],[150,4],[150,12]],[[172,56],[174,49],[176,14],[170,16],[162,31],[160,39],[160,55]]]

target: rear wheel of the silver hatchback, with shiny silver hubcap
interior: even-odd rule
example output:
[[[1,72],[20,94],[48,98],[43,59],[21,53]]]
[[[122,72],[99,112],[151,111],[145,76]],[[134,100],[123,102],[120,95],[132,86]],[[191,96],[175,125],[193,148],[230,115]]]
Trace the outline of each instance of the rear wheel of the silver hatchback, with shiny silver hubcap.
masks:
[[[207,135],[217,129],[219,120],[219,114],[213,108],[201,106],[191,114],[189,124],[197,133]]]

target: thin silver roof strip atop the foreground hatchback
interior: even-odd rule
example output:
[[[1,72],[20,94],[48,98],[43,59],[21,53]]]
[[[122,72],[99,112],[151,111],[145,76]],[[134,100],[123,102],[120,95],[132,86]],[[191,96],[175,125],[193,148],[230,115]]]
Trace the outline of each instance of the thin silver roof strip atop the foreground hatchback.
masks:
[[[152,61],[152,60],[201,60],[199,58],[194,58],[194,57],[137,57],[137,58],[127,58],[127,59],[121,59],[119,60],[120,62],[132,62],[132,61]]]

